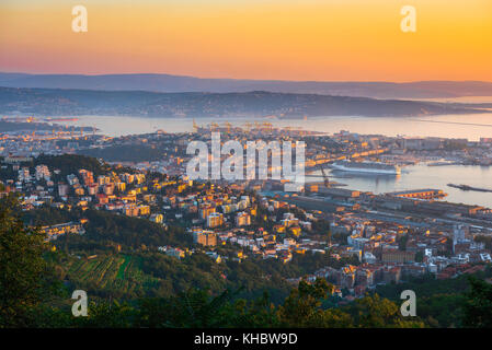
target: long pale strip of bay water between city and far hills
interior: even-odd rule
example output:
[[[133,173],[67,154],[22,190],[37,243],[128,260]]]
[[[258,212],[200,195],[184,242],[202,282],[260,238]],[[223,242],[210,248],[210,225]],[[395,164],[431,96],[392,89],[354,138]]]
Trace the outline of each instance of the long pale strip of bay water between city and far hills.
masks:
[[[79,116],[78,121],[66,121],[66,125],[96,127],[102,133],[117,137],[123,135],[148,133],[162,129],[167,132],[193,131],[191,118],[149,118],[122,116]],[[256,119],[258,121],[264,119]],[[210,122],[231,122],[232,126],[244,126],[251,118],[197,118],[196,122],[205,126]],[[480,115],[443,115],[430,117],[312,117],[304,119],[267,119],[274,127],[294,127],[305,130],[317,130],[328,133],[350,130],[359,133],[379,133],[386,136],[467,138],[479,140],[492,137],[492,113]],[[438,121],[438,122],[428,122]],[[450,124],[447,124],[450,122]],[[459,124],[459,122],[466,122]]]

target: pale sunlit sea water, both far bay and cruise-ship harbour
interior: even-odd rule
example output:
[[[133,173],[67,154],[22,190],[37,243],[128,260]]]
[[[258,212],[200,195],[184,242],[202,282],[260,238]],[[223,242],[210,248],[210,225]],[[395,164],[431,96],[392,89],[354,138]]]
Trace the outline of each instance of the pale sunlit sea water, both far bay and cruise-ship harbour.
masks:
[[[460,101],[471,102],[471,101]],[[478,101],[473,101],[478,102]],[[480,102],[489,102],[488,98]],[[136,135],[155,132],[162,129],[167,132],[193,131],[191,118],[149,118],[149,117],[121,117],[121,116],[78,116],[78,121],[67,121],[67,125],[94,126],[101,133],[117,137],[123,135]],[[274,127],[296,127],[305,130],[317,130],[327,133],[350,130],[358,133],[376,133],[386,136],[410,137],[443,137],[466,138],[479,140],[492,138],[492,113],[480,115],[442,115],[428,117],[316,117],[291,120],[278,120],[273,118],[236,118],[213,119],[197,118],[196,124],[206,126],[213,121],[224,125],[225,121],[232,126],[244,126],[245,122],[268,121]],[[481,205],[492,208],[492,192],[462,191],[448,187],[447,184],[467,184],[476,187],[492,188],[492,167],[481,166],[426,166],[415,165],[405,167],[401,176],[364,176],[343,174],[335,175],[340,183],[347,184],[350,188],[373,191],[375,194],[417,189],[436,188],[445,190],[448,196],[445,200],[464,202],[468,205]],[[340,177],[342,176],[342,177]],[[311,178],[312,179],[312,178]]]

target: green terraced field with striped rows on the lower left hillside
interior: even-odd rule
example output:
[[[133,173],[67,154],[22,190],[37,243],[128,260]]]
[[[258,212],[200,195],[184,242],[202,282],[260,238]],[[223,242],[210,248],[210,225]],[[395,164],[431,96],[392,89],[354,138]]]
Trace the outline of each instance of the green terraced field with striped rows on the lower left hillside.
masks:
[[[145,275],[140,265],[140,257],[116,255],[73,259],[66,268],[68,279],[80,289],[117,296],[142,296],[159,283],[159,279]]]

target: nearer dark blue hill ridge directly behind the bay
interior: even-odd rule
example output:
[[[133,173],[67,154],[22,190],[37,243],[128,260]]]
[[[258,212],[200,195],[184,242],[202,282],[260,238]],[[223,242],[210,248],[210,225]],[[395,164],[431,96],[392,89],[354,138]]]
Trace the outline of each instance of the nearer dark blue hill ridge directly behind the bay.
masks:
[[[473,107],[481,106],[264,91],[158,93],[0,88],[0,113],[7,115],[302,118],[305,116],[398,117],[485,112]]]

